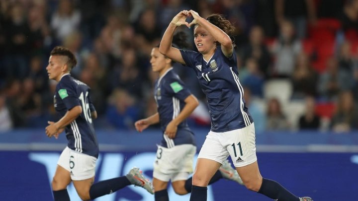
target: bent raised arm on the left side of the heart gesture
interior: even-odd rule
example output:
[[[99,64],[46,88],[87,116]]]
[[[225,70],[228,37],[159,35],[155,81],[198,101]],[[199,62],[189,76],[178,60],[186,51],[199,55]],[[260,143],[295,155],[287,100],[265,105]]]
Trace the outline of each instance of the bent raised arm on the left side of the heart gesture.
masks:
[[[159,46],[159,52],[161,54],[180,64],[185,64],[185,62],[181,57],[179,49],[172,47],[172,42],[174,32],[178,26],[189,26],[189,23],[185,21],[187,15],[188,11],[182,10],[172,19]]]

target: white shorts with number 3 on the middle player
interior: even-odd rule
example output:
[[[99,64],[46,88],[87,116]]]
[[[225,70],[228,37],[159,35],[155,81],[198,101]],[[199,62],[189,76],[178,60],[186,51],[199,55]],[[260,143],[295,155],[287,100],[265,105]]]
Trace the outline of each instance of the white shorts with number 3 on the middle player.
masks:
[[[171,148],[158,146],[154,161],[153,177],[164,182],[187,180],[193,172],[196,146],[180,144]]]

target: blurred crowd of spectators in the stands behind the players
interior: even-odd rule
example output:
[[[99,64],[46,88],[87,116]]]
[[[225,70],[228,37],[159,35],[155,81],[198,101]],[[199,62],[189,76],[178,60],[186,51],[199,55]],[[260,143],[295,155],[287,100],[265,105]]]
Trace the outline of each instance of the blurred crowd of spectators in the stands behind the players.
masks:
[[[95,127],[133,129],[156,112],[151,49],[183,9],[234,23],[239,77],[259,133],[358,128],[358,0],[1,0],[0,131],[56,119],[56,82],[45,67],[57,45],[77,56],[72,75],[91,87]],[[179,30],[192,44],[192,29]],[[209,127],[194,73],[175,70],[200,100],[190,126]]]

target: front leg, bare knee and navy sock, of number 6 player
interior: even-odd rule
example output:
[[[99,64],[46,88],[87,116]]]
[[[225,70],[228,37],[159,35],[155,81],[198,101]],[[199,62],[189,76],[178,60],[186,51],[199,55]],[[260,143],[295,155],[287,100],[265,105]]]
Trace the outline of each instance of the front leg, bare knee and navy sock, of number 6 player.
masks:
[[[70,201],[70,197],[67,193],[67,186],[71,183],[70,172],[61,166],[57,166],[55,176],[52,179],[52,191],[54,200],[67,200]]]

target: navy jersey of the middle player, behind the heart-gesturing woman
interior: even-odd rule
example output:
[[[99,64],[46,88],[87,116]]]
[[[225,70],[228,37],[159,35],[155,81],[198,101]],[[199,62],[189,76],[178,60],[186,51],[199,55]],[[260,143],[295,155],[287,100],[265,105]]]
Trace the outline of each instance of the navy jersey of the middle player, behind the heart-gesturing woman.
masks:
[[[167,125],[175,119],[185,106],[184,100],[191,95],[185,87],[173,67],[168,69],[155,82],[154,98],[157,102],[159,121],[163,131],[161,146],[171,148],[179,144],[195,145],[194,134],[190,131],[186,120],[178,125],[178,131],[174,139],[170,139],[164,131]]]

